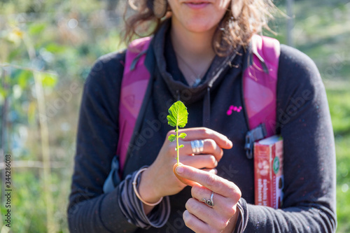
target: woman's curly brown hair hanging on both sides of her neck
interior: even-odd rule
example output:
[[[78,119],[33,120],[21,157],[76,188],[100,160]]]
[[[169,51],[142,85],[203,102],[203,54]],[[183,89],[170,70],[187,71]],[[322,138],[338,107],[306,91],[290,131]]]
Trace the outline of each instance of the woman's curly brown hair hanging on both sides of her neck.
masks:
[[[130,43],[135,36],[143,37],[155,34],[162,23],[167,18],[172,17],[169,9],[162,19],[156,17],[153,13],[153,1],[137,0],[137,4],[134,0],[127,1],[127,8],[133,8],[136,13],[127,17],[127,10],[125,10],[123,39],[126,43]],[[219,56],[228,55],[239,45],[245,47],[253,34],[259,34],[263,28],[269,30],[267,22],[273,17],[272,12],[276,9],[272,0],[232,1],[235,1],[234,6],[239,6],[241,10],[237,13],[237,9],[229,7],[216,28],[212,46]]]

